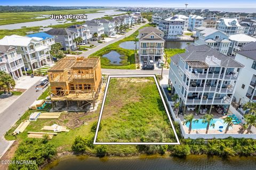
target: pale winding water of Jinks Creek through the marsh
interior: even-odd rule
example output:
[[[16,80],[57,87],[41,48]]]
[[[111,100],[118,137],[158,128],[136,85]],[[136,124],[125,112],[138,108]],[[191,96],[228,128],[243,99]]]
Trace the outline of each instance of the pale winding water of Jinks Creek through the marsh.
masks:
[[[91,13],[91,14],[86,14],[87,15],[87,20],[92,20],[95,18],[101,18],[104,15],[116,15],[116,14],[122,14],[125,12],[120,12],[120,11],[115,11],[115,10],[104,10],[104,11],[99,11],[99,13]],[[44,15],[47,17],[50,17],[50,15]],[[76,20],[76,21],[85,21],[85,20]],[[62,22],[62,23],[60,23]],[[43,20],[43,21],[33,21],[33,22],[23,22],[23,23],[15,23],[15,24],[7,24],[7,25],[0,25],[0,29],[8,29],[8,30],[13,30],[13,29],[20,29],[24,26],[26,27],[47,27],[49,25],[57,25],[57,24],[63,24],[63,23],[70,23],[71,21],[63,20],[63,21],[58,21],[58,20]]]

